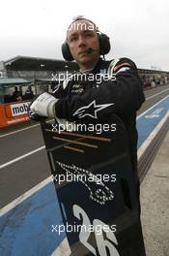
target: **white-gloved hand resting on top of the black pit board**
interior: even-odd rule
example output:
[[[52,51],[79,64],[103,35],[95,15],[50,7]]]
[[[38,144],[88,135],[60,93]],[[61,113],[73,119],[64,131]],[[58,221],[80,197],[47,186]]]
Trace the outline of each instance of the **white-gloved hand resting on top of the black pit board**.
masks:
[[[38,114],[39,116],[55,117],[55,104],[58,101],[51,94],[42,93],[31,105],[29,116]],[[32,118],[31,117],[31,118]],[[33,119],[33,118],[32,118]]]

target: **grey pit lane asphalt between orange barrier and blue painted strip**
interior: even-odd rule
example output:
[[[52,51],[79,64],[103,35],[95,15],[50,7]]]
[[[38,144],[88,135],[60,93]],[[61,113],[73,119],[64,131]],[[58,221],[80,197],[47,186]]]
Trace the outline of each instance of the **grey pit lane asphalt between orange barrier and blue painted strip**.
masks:
[[[137,115],[145,112],[167,95],[169,95],[169,85],[146,90],[147,100]],[[0,166],[41,146],[43,146],[42,131],[36,122],[31,121],[1,129]],[[44,148],[0,168],[0,208],[11,203],[48,176],[50,176],[50,168]]]

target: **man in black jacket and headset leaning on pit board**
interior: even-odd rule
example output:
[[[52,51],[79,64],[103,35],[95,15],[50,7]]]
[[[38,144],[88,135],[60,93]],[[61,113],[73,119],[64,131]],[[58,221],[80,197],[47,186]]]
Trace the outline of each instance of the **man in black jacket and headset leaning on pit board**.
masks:
[[[34,118],[39,114],[89,123],[116,113],[127,129],[130,158],[138,184],[135,123],[136,112],[145,100],[142,82],[130,59],[102,60],[100,55],[108,53],[109,49],[109,38],[99,32],[95,23],[81,16],[74,19],[62,51],[67,60],[77,62],[79,74],[86,75],[85,79],[72,76],[71,80],[64,80],[53,95],[40,95],[30,107],[30,116]],[[91,75],[94,80],[89,80]],[[96,79],[97,75],[101,80]]]

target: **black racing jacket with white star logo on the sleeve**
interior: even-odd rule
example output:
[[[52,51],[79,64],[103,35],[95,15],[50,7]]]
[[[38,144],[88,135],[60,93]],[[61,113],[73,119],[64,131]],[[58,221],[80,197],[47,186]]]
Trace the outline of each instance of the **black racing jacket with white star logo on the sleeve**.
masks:
[[[126,126],[131,161],[136,170],[136,112],[145,97],[135,64],[127,58],[112,61],[99,58],[90,74],[80,75],[55,88],[53,95],[60,98],[55,106],[56,116],[85,123],[116,113]]]

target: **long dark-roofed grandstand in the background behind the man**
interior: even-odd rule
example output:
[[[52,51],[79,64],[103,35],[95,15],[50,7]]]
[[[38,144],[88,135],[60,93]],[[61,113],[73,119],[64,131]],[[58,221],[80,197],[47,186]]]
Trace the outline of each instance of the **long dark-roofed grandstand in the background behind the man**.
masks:
[[[0,78],[21,78],[32,81],[33,84],[42,82],[47,85],[52,78],[69,72],[73,74],[78,69],[77,64],[65,60],[48,59],[29,56],[16,56],[0,62]],[[169,81],[169,72],[161,70],[138,69],[144,87],[165,84]],[[57,76],[56,76],[57,75]]]

